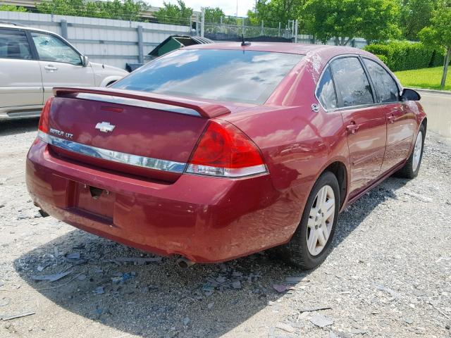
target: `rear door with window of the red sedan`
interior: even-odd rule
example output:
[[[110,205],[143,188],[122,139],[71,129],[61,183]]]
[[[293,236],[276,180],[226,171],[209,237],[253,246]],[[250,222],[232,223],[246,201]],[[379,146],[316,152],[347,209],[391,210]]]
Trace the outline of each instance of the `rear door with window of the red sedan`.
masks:
[[[358,194],[381,172],[387,137],[385,114],[375,105],[373,89],[357,56],[330,63],[338,108],[347,130],[350,149],[350,194]]]

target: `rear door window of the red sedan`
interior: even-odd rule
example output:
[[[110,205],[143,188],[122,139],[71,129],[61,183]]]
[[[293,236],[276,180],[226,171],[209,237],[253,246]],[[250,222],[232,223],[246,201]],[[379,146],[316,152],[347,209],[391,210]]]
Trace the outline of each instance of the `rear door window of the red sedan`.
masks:
[[[338,58],[330,64],[330,69],[339,107],[374,103],[371,86],[358,58]]]

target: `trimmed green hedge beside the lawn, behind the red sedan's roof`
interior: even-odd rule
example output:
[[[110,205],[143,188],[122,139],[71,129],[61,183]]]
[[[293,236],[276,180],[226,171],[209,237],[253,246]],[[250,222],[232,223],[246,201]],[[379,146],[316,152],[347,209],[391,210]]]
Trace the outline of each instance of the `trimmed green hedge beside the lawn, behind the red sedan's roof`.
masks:
[[[370,44],[364,48],[376,54],[388,68],[397,72],[443,65],[443,51],[435,51],[419,42],[393,41],[388,44]]]

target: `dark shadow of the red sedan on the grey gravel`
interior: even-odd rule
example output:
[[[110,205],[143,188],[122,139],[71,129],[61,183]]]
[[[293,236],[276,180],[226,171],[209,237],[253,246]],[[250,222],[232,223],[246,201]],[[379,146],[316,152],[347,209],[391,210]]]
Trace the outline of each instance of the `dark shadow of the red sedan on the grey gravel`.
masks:
[[[349,206],[340,215],[333,248],[381,202],[396,198],[394,191],[405,182],[390,178]],[[46,220],[49,227],[57,224],[53,218]],[[117,261],[137,257],[154,256],[73,230],[28,251],[14,264],[30,287],[58,306],[144,337],[220,337],[266,308],[268,301],[290,294],[290,289],[274,289],[286,286],[286,277],[311,273],[266,253],[187,269],[178,268],[174,258],[145,265]],[[54,282],[32,279],[63,271],[70,273]]]

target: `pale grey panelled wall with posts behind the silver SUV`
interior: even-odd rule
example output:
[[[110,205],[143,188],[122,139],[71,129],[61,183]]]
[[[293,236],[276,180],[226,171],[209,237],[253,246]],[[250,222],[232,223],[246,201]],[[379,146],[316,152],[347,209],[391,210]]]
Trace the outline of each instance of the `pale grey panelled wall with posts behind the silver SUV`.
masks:
[[[140,47],[145,61],[149,51],[169,35],[190,32],[190,27],[180,25],[6,11],[0,11],[0,21],[55,32],[68,39],[91,61],[119,68],[125,68],[125,63],[139,63]]]

